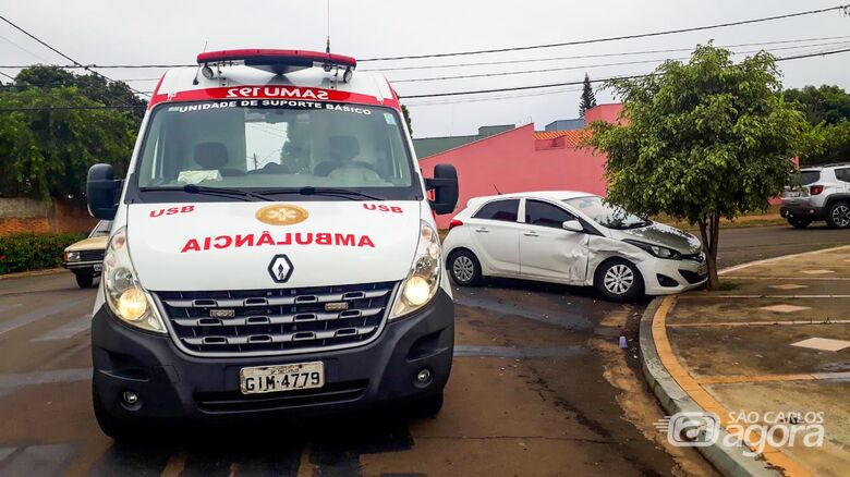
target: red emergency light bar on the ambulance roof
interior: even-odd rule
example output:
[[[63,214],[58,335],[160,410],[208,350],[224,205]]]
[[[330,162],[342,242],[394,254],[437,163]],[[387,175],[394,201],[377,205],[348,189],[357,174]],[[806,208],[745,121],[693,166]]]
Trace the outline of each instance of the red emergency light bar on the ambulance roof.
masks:
[[[287,74],[314,66],[330,71],[337,66],[344,69],[350,76],[349,72],[357,66],[357,60],[344,54],[318,51],[245,49],[201,53],[197,56],[197,64],[204,66],[244,64],[275,74]]]

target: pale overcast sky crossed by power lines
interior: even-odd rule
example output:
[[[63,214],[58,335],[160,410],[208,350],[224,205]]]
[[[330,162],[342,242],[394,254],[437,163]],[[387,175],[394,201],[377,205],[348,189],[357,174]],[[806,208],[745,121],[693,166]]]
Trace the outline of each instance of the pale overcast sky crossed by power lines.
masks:
[[[355,58],[426,54],[621,36],[690,26],[734,22],[840,4],[838,0],[791,1],[340,1],[331,0],[332,50]],[[327,30],[325,0],[312,1],[8,1],[2,11],[12,22],[82,63],[141,64],[193,63],[207,50],[231,48],[300,48],[323,50]],[[604,44],[559,47],[511,53],[478,54],[430,60],[361,62],[359,69],[438,65],[514,59],[546,59],[659,49],[692,48],[714,39],[716,45],[739,45],[807,38],[839,37],[807,42],[766,46],[777,57],[850,47],[850,16],[828,12],[755,25],[668,35]],[[829,44],[829,45],[827,45]],[[790,47],[793,47],[791,49]],[[738,51],[760,47],[737,47]],[[776,48],[785,48],[777,50]],[[393,81],[445,75],[502,73],[530,69],[572,70],[451,80],[396,83],[400,96],[489,89],[579,81],[591,77],[646,73],[656,63],[598,66],[606,63],[657,60],[687,56],[663,52],[535,63],[387,71]],[[56,53],[9,25],[0,23],[0,63],[66,64]],[[825,58],[781,62],[787,87],[837,84],[850,89],[850,52]],[[593,65],[593,68],[591,68]],[[586,66],[586,68],[585,68]],[[0,70],[14,76],[15,70]],[[113,78],[130,80],[133,87],[151,90],[159,70],[100,70]],[[3,78],[5,80],[5,78]],[[557,119],[578,115],[579,87],[469,97],[411,99],[414,137],[473,134],[481,125],[524,124],[537,129]],[[542,95],[541,93],[549,93]],[[529,96],[529,95],[534,96]],[[509,97],[510,95],[523,95]],[[599,102],[610,102],[597,91]],[[488,100],[483,100],[487,99]],[[465,102],[450,102],[459,101]],[[474,101],[471,101],[474,100]]]

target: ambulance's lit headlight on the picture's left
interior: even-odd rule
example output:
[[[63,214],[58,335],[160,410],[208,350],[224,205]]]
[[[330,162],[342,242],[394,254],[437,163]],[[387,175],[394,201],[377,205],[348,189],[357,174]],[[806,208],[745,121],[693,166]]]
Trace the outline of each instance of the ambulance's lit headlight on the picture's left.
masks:
[[[165,333],[166,327],[154,301],[135,277],[126,241],[126,228],[109,240],[104,257],[104,293],[109,309],[127,325]]]

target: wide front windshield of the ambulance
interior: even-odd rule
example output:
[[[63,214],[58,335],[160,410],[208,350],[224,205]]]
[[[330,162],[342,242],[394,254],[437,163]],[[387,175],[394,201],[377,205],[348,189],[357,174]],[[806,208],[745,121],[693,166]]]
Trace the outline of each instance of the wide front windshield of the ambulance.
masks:
[[[333,187],[385,198],[416,189],[398,113],[286,99],[166,105],[149,120],[141,191]]]

